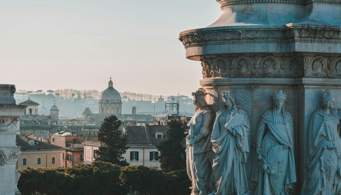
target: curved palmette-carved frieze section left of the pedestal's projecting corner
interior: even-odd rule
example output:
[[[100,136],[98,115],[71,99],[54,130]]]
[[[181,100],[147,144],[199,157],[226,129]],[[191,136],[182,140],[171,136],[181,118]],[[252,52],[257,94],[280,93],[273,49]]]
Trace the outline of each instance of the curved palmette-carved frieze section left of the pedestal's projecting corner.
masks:
[[[201,59],[203,78],[303,77],[303,64],[295,56],[229,56]]]

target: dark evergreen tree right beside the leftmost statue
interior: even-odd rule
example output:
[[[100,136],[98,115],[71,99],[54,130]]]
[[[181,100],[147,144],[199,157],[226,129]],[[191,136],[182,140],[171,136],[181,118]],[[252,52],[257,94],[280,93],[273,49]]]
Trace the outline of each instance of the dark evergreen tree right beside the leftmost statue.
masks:
[[[182,142],[185,138],[185,128],[179,120],[171,120],[167,124],[167,137],[156,148],[160,151],[159,161],[164,172],[176,171],[186,167],[185,148]]]

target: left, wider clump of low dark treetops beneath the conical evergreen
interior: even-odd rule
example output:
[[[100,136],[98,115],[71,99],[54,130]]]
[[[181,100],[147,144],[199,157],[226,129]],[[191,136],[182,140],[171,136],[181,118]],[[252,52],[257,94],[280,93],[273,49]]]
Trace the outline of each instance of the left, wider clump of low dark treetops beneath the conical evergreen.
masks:
[[[22,195],[125,195],[120,185],[120,166],[97,161],[67,169],[27,168],[20,171]]]

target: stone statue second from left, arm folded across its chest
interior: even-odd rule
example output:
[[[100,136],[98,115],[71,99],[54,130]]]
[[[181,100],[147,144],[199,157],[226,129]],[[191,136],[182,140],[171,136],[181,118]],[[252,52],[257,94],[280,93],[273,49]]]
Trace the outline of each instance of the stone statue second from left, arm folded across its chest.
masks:
[[[215,195],[248,195],[249,120],[231,92],[223,92],[222,98],[225,105],[217,112],[211,136]]]

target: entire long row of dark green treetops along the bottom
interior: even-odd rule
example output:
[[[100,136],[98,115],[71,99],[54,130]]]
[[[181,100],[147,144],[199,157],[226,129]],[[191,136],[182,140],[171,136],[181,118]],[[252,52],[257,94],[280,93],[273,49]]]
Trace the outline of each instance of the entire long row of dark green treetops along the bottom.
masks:
[[[22,195],[127,195],[130,189],[140,195],[189,195],[191,185],[186,170],[164,173],[101,161],[67,169],[27,168],[20,173]]]

